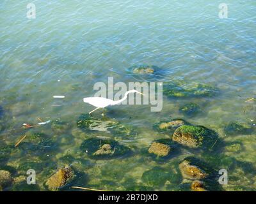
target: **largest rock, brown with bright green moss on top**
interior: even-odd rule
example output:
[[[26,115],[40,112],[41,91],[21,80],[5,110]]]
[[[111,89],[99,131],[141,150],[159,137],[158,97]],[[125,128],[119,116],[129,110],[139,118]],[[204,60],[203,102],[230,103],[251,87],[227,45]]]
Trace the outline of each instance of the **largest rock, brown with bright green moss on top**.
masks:
[[[172,136],[174,142],[191,148],[211,148],[217,138],[214,131],[204,126],[180,126]]]

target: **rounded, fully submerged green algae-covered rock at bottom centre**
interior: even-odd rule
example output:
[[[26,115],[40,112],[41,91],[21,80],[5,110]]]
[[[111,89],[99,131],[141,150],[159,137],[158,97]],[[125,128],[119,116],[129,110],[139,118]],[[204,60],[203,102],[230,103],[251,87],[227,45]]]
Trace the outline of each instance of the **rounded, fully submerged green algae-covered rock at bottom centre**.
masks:
[[[141,180],[148,186],[159,187],[163,186],[166,181],[170,180],[170,177],[170,171],[161,167],[154,167],[151,170],[145,171]]]

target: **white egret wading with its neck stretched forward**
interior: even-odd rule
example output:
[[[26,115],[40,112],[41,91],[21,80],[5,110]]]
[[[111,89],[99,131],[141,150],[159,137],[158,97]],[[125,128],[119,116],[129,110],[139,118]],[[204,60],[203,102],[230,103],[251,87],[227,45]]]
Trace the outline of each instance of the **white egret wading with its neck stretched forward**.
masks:
[[[136,90],[130,90],[125,92],[124,98],[117,101],[113,101],[111,99],[104,98],[104,97],[87,97],[87,98],[84,98],[83,100],[84,100],[84,103],[89,103],[90,105],[97,107],[89,113],[90,115],[92,114],[92,112],[95,112],[95,110],[98,110],[99,108],[103,108],[102,115],[104,115],[104,108],[106,108],[107,106],[114,106],[122,103],[123,101],[125,101],[125,99],[127,99],[128,94],[131,94],[134,92],[144,95],[141,92],[138,92]]]

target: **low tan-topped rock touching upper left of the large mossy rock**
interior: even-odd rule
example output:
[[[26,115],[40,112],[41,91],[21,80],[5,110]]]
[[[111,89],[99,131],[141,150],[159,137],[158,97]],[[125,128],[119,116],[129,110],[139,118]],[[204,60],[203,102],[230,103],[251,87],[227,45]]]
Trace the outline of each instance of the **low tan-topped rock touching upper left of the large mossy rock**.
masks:
[[[163,120],[154,124],[154,129],[161,133],[170,132],[172,133],[175,129],[188,124],[185,120],[182,119],[173,119],[173,120]]]

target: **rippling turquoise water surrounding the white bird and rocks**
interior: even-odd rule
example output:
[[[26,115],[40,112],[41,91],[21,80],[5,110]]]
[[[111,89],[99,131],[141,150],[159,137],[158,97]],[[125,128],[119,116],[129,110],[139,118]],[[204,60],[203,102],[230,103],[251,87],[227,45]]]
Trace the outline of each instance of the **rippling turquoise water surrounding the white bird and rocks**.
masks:
[[[217,150],[216,161],[218,157],[235,158],[236,163],[246,163],[252,168],[230,168],[230,182],[222,187],[227,191],[256,189],[255,133],[237,136],[223,133],[230,121],[250,124],[256,121],[255,101],[244,102],[256,95],[255,1],[225,1],[227,19],[218,17],[222,1],[54,0],[33,3],[35,19],[26,18],[28,1],[0,3],[0,106],[4,110],[0,120],[4,127],[1,145],[15,145],[28,131],[22,124],[36,124],[40,122],[38,117],[44,121],[63,120],[70,129],[56,136],[51,132],[51,124],[33,128],[56,141],[50,147],[40,147],[31,145],[26,138],[5,156],[2,169],[12,169],[13,177],[18,177],[26,175],[22,168],[24,163],[42,163],[36,173],[37,184],[30,190],[35,187],[44,191],[45,180],[66,164],[79,171],[77,177],[81,179],[73,186],[113,191],[147,186],[141,180],[144,171],[156,166],[171,169],[191,155],[205,159],[202,152],[188,149],[161,162],[140,154],[140,149],[147,148],[154,139],[170,138],[152,127],[171,116],[214,129],[227,143],[241,142],[241,152]],[[127,72],[131,66],[140,64],[155,65],[162,71],[150,79]],[[108,82],[108,77],[125,83],[141,80],[200,82],[218,87],[221,94],[212,98],[164,96],[161,112],[150,112],[150,105],[109,108],[109,118],[138,131],[138,135],[129,140],[117,139],[136,153],[122,159],[95,160],[79,152],[79,146],[86,138],[102,133],[83,133],[76,122],[81,113],[93,110],[83,103],[83,98],[93,96],[93,85]],[[53,99],[54,95],[66,97]],[[198,103],[205,113],[184,116],[179,107],[189,102]],[[95,115],[101,117],[99,112]],[[74,158],[63,162],[60,157],[65,155]],[[216,168],[222,167],[228,168],[216,164]],[[147,187],[163,191],[187,190],[182,184],[186,181]],[[6,190],[22,191],[24,187],[10,185]]]

